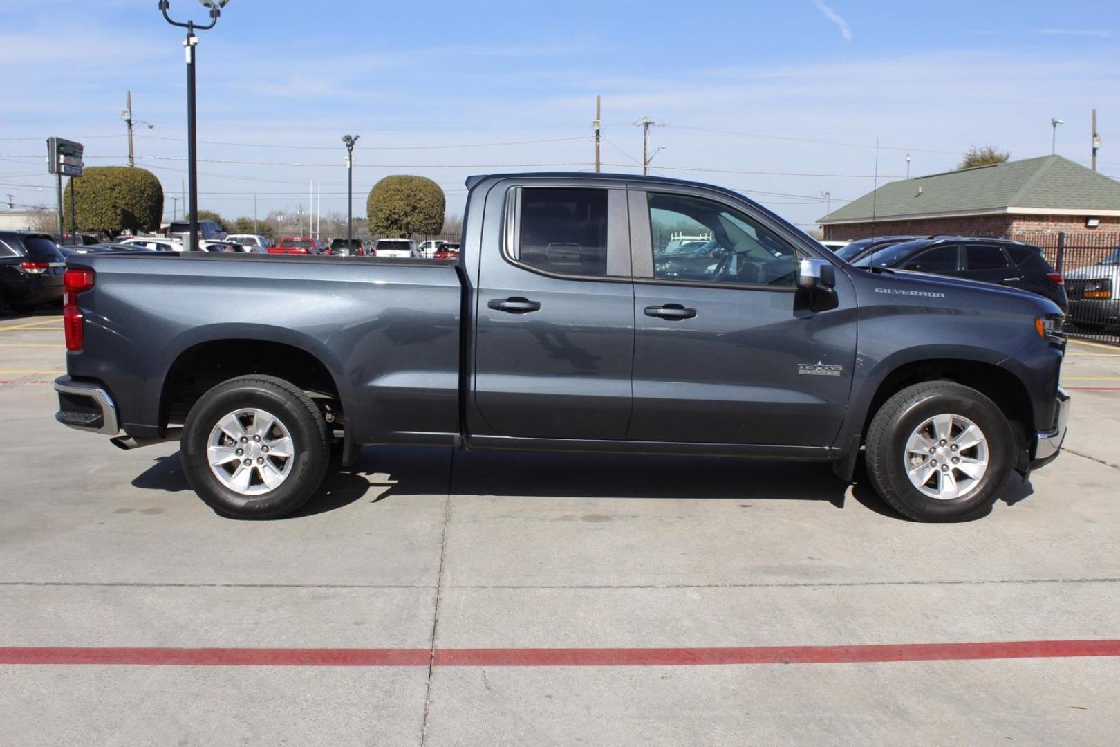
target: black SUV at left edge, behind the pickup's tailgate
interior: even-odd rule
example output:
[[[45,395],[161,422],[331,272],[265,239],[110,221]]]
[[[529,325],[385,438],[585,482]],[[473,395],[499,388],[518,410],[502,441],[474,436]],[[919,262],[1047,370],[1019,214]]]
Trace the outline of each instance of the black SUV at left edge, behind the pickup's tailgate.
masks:
[[[63,297],[66,259],[45,233],[0,231],[0,308],[27,312]]]

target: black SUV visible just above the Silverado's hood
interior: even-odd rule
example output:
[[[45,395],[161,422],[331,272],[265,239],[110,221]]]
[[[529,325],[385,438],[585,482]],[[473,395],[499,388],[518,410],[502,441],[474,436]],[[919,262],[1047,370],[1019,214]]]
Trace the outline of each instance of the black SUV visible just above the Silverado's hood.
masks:
[[[1068,309],[1065,280],[1043,258],[1043,250],[1005,239],[946,236],[908,241],[865,254],[860,268],[914,270],[1027,290]]]

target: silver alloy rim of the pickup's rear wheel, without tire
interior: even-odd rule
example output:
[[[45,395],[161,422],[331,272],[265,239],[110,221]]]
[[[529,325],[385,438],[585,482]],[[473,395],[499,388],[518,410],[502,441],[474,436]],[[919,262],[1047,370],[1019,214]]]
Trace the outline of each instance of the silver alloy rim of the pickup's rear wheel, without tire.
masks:
[[[214,476],[241,495],[263,495],[291,474],[296,450],[280,419],[264,410],[234,410],[217,421],[206,443]]]

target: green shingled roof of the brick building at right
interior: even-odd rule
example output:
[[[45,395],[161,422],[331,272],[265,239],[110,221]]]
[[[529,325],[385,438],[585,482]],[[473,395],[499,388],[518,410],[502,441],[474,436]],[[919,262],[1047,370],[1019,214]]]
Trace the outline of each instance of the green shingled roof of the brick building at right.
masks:
[[[904,218],[939,213],[988,212],[1008,207],[1120,211],[1120,181],[1061,156],[892,181],[819,223]]]

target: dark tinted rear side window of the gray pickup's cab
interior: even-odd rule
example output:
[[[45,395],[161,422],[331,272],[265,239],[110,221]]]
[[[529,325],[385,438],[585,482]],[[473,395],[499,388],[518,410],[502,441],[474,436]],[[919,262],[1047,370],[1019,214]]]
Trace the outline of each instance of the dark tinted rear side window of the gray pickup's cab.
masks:
[[[559,274],[607,274],[607,190],[521,190],[516,259]]]

